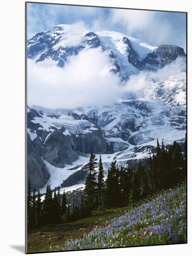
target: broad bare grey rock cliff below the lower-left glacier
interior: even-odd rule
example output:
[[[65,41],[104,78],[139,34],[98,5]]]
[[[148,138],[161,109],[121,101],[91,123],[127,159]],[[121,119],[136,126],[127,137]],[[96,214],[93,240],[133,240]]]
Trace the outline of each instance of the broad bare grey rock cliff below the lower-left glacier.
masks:
[[[103,154],[106,152],[106,141],[101,128],[83,135],[64,135],[65,128],[60,128],[45,141],[41,154],[45,160],[56,167],[63,168],[77,160],[79,153]]]

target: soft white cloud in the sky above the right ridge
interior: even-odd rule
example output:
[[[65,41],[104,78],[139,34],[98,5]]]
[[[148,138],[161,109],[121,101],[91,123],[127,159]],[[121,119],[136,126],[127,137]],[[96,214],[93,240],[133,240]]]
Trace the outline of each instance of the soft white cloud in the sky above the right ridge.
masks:
[[[113,9],[111,23],[123,26],[129,36],[145,40],[149,44],[169,44],[173,38],[175,42],[172,44],[178,44],[173,25],[160,12]]]

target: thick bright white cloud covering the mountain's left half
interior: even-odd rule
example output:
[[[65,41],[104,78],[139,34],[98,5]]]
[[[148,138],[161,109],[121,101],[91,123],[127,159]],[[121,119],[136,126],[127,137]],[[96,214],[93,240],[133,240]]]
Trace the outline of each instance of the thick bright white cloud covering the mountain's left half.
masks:
[[[28,104],[48,108],[74,108],[111,104],[121,97],[117,75],[100,48],[71,56],[64,68],[52,60],[28,60]]]

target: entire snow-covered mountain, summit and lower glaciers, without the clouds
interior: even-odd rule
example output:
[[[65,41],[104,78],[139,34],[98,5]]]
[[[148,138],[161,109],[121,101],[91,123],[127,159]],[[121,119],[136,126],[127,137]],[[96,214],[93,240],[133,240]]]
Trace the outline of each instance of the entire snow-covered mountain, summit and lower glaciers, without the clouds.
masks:
[[[119,165],[135,164],[155,152],[156,140],[183,142],[186,133],[185,70],[159,75],[166,65],[185,58],[177,46],[149,46],[113,31],[77,31],[58,25],[28,40],[28,58],[52,59],[64,68],[71,55],[100,47],[113,64],[110,72],[126,83],[145,75],[142,94],[125,90],[121,101],[109,106],[73,109],[27,107],[28,177],[45,192],[46,183],[64,188],[82,184],[91,152],[102,155],[104,167],[117,157]],[[166,72],[166,70],[165,70]],[[135,84],[135,87],[137,84]]]

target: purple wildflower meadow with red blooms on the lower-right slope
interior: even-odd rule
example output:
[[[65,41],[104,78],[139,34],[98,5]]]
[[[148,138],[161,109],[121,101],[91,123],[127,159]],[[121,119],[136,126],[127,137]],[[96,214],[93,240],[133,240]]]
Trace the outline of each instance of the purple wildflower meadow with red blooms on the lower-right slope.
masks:
[[[170,189],[104,225],[87,230],[62,250],[186,243],[186,188]]]

